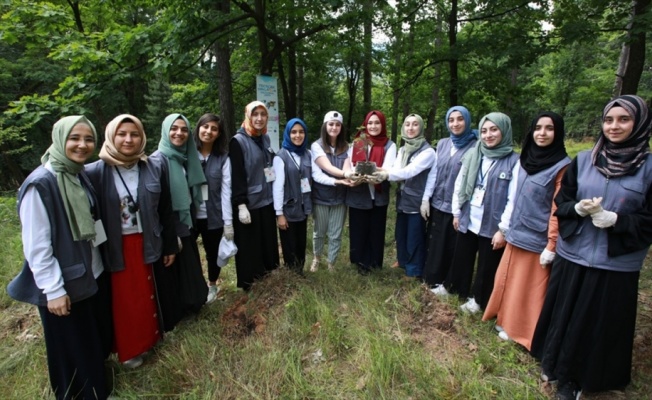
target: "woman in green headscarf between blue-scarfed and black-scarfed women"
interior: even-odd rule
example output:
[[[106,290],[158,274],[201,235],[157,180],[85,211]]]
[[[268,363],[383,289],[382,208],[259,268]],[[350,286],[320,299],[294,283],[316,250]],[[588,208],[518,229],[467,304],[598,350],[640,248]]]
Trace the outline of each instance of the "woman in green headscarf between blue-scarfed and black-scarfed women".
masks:
[[[493,112],[480,120],[480,141],[462,159],[453,193],[453,227],[457,242],[448,291],[461,299],[460,308],[476,313],[484,309],[494,276],[505,250],[509,215],[505,208],[513,197],[518,176],[518,154],[512,145],[512,122]],[[478,270],[473,280],[476,256]]]

